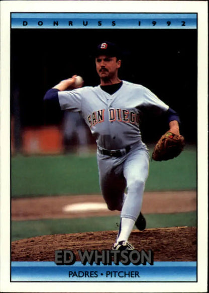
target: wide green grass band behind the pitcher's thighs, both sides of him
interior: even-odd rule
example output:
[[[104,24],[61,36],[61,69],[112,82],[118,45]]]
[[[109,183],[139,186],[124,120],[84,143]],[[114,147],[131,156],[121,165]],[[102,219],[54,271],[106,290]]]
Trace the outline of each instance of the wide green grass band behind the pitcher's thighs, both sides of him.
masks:
[[[12,197],[100,193],[95,155],[16,156],[11,162]],[[150,162],[146,191],[196,189],[196,150],[169,161]]]

